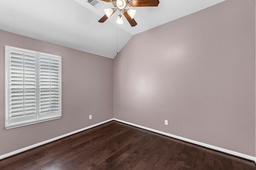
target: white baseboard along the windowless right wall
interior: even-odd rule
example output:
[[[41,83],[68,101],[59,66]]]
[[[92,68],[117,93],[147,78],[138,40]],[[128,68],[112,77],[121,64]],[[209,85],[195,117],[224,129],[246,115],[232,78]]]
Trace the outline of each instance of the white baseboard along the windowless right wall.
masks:
[[[128,124],[128,125],[139,127],[141,129],[145,129],[145,130],[148,130],[148,131],[159,133],[159,134],[162,134],[162,135],[165,135],[165,136],[168,136],[168,137],[172,137],[172,138],[175,138],[175,139],[179,139],[179,140],[182,140],[182,141],[186,141],[186,142],[189,142],[189,143],[200,145],[202,147],[206,147],[206,148],[209,148],[209,149],[218,150],[220,152],[224,152],[224,153],[227,153],[227,154],[232,154],[234,156],[239,156],[241,158],[245,158],[245,159],[252,160],[252,161],[256,162],[256,157],[254,157],[254,156],[250,156],[250,155],[247,155],[247,154],[242,154],[242,153],[239,153],[239,152],[235,152],[235,151],[224,149],[224,148],[220,148],[220,147],[216,147],[216,146],[213,146],[213,145],[209,145],[209,144],[206,144],[206,143],[194,141],[194,140],[187,139],[187,138],[184,138],[184,137],[172,135],[170,133],[165,133],[165,132],[158,131],[158,130],[155,130],[155,129],[151,129],[151,128],[148,128],[148,127],[144,127],[144,126],[141,126],[141,125],[136,125],[134,123],[130,123],[130,122],[127,122],[127,121],[122,121],[122,120],[115,119],[115,118],[114,118],[114,121],[119,121],[121,123],[125,123],[125,124]]]

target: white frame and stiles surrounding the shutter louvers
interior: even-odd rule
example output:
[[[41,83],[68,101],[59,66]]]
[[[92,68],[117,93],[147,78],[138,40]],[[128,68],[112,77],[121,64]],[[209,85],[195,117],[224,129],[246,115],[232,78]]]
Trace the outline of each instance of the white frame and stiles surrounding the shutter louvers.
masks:
[[[11,52],[15,51],[15,50],[20,50],[20,51],[24,51],[24,52],[28,52],[28,53],[34,53],[35,54],[35,72],[36,72],[36,80],[35,80],[35,84],[36,84],[36,88],[35,88],[35,98],[36,98],[36,113],[35,113],[35,119],[33,120],[28,120],[28,121],[22,121],[22,122],[17,122],[17,123],[8,123],[8,119],[10,119],[10,55]],[[50,56],[50,57],[54,57],[56,59],[58,59],[58,111],[56,111],[55,114],[51,114],[49,113],[49,116],[42,116],[42,114],[40,114],[40,57],[45,57],[45,56]],[[36,59],[37,58],[37,59]],[[37,68],[38,67],[38,68]],[[5,46],[5,85],[6,85],[6,89],[5,89],[5,128],[6,129],[12,129],[12,128],[16,128],[16,127],[21,127],[21,126],[25,126],[25,125],[31,125],[31,124],[35,124],[35,123],[40,123],[40,122],[44,122],[44,121],[50,121],[50,120],[54,120],[54,119],[59,119],[62,116],[62,105],[61,105],[61,98],[62,98],[62,78],[61,78],[61,73],[62,72],[62,64],[61,64],[61,56],[57,56],[57,55],[50,55],[50,54],[46,54],[46,53],[41,53],[41,52],[37,52],[37,51],[31,51],[31,50],[26,50],[26,49],[21,49],[21,48],[16,48],[16,47],[10,47],[10,46]],[[39,98],[39,100],[38,100]]]

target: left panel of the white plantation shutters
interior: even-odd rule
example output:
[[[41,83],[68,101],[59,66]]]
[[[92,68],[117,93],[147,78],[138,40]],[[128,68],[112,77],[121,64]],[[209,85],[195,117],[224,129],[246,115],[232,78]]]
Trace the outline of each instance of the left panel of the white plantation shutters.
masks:
[[[7,124],[36,119],[35,114],[35,53],[12,50],[9,53]]]

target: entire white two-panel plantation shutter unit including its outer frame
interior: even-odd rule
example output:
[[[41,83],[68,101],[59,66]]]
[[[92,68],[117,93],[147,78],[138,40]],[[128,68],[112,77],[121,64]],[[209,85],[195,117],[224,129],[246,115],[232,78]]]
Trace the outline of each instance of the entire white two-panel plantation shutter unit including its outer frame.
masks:
[[[61,117],[61,57],[6,46],[6,129]]]

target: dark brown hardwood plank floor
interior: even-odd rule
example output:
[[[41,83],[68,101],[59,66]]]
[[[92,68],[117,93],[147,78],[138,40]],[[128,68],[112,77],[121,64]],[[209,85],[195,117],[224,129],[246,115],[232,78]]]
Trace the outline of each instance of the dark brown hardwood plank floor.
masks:
[[[0,160],[0,170],[256,170],[254,162],[116,121]]]

